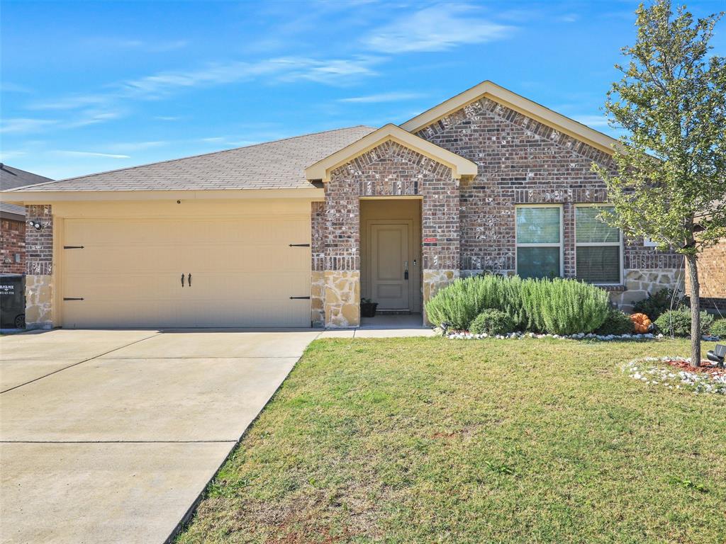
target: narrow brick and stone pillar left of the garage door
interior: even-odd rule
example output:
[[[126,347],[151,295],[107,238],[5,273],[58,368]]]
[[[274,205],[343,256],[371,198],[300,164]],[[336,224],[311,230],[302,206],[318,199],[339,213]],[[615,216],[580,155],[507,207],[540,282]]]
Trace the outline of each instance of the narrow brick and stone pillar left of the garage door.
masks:
[[[50,329],[53,326],[53,210],[50,205],[25,207],[28,221],[43,228],[25,230],[25,326]]]

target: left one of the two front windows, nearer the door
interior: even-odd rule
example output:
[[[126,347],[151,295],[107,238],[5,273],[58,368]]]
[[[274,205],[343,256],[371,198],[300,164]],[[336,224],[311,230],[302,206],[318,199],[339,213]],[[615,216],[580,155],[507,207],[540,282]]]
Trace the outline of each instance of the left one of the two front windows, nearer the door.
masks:
[[[562,276],[562,207],[521,206],[517,213],[517,274]]]

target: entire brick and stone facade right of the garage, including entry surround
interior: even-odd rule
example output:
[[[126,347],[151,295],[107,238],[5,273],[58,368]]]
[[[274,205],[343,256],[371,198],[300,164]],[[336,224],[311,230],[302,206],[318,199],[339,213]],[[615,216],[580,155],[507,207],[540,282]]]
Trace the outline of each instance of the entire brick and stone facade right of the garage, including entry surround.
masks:
[[[576,276],[575,207],[607,202],[605,184],[591,165],[597,162],[614,172],[610,154],[487,98],[416,135],[476,162],[478,175],[454,180],[446,166],[394,141],[333,170],[325,185],[325,203],[315,203],[312,210],[312,269],[314,274],[325,271],[321,284],[337,282],[339,287],[314,288],[324,292],[324,299],[330,292],[335,300],[335,308],[328,300],[314,302],[324,308],[317,314],[319,320],[333,326],[357,324],[350,316],[357,311],[354,297],[359,297],[351,286],[359,281],[355,274],[361,267],[361,197],[423,199],[424,301],[460,276],[481,271],[515,273],[516,205],[562,206],[563,271],[565,277]],[[682,288],[680,255],[645,247],[640,239],[625,240],[623,252],[624,285],[610,288],[613,302],[627,309],[648,292]],[[341,289],[348,294],[341,294]],[[343,300],[346,297],[350,300]],[[347,318],[331,318],[331,313],[342,315],[346,305],[351,305]]]

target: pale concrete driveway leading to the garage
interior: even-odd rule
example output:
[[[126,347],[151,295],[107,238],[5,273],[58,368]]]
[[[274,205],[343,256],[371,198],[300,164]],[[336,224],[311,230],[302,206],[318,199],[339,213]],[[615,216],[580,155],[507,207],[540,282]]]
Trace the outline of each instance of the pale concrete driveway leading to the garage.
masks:
[[[163,543],[318,335],[1,338],[1,542]]]

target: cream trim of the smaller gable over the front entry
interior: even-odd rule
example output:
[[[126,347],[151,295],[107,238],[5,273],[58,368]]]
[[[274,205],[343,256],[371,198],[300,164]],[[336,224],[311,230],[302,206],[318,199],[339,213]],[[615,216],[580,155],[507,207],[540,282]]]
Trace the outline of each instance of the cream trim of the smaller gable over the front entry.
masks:
[[[423,154],[425,157],[448,166],[452,170],[453,178],[459,179],[462,176],[476,176],[477,166],[475,162],[471,162],[456,153],[452,153],[448,149],[432,144],[430,141],[404,131],[404,129],[391,123],[384,125],[377,131],[319,160],[314,165],[306,168],[305,174],[310,180],[320,179],[327,182],[330,180],[330,172],[335,170],[335,168],[346,164],[346,162],[350,162],[371,149],[375,149],[375,147],[380,146],[380,144],[386,141],[395,141],[404,147]]]

